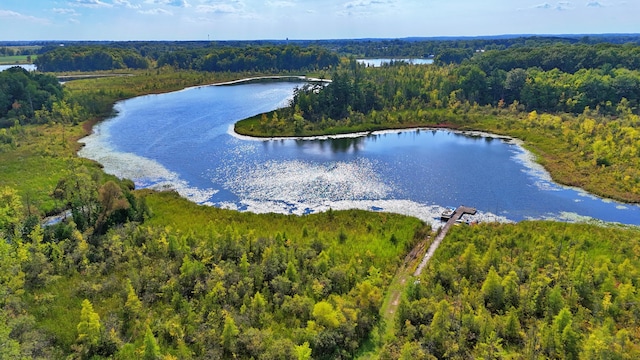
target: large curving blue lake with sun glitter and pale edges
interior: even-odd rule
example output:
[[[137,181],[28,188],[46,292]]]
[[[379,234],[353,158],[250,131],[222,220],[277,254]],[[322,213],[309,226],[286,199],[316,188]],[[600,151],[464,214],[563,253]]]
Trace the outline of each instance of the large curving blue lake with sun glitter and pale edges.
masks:
[[[80,156],[139,188],[256,213],[366,209],[432,224],[447,206],[475,220],[583,220],[640,225],[640,206],[553,183],[513,140],[414,129],[306,139],[253,139],[238,120],[285,106],[301,83],[206,86],[116,104]],[[473,220],[473,219],[472,219]]]

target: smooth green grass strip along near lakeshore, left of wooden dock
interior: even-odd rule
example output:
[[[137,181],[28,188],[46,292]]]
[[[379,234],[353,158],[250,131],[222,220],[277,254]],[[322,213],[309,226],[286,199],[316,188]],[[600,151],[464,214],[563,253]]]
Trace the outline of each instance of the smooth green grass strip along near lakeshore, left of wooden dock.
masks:
[[[417,230],[426,226],[419,219],[390,213],[330,210],[304,216],[253,214],[200,206],[173,192],[144,193],[153,213],[147,223],[151,226],[169,226],[195,236],[222,234],[232,226],[234,231],[256,238],[280,236],[299,244],[320,241],[343,260],[375,259],[387,279],[419,240],[414,238]]]

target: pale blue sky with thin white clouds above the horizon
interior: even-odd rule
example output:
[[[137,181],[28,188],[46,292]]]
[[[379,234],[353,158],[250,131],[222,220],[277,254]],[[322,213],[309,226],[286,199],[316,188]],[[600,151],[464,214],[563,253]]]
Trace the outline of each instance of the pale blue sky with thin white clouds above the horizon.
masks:
[[[0,0],[0,40],[640,33],[640,0]]]

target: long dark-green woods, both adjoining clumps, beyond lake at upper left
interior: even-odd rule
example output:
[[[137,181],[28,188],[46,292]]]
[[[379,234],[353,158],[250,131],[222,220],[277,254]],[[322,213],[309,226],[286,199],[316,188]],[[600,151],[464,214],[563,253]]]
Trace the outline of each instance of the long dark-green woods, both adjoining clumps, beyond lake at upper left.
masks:
[[[210,72],[314,71],[335,66],[338,56],[324,48],[299,46],[173,47],[59,46],[35,61],[40,71],[99,71],[157,67]],[[144,55],[143,55],[144,54]]]

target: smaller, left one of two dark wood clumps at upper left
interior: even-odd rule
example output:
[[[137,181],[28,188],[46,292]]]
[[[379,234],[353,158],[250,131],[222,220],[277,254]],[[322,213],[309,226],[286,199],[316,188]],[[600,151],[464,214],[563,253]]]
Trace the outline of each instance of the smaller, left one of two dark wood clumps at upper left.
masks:
[[[40,71],[147,69],[149,61],[133,49],[106,46],[57,47],[35,61]]]

